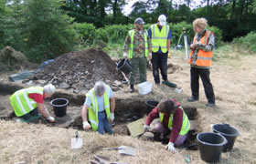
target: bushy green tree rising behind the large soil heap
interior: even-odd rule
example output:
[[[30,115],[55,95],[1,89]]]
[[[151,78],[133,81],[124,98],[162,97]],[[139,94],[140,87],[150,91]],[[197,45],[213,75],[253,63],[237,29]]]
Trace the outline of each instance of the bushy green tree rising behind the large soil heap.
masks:
[[[27,56],[39,62],[72,49],[75,31],[73,19],[60,9],[61,1],[27,0],[23,10]]]

